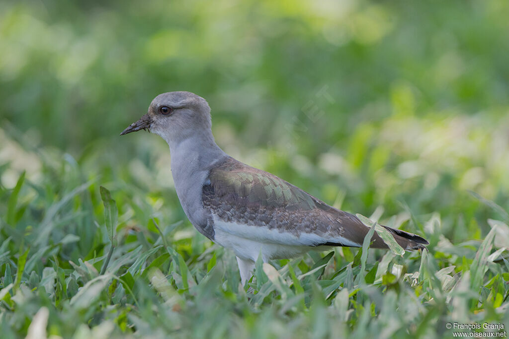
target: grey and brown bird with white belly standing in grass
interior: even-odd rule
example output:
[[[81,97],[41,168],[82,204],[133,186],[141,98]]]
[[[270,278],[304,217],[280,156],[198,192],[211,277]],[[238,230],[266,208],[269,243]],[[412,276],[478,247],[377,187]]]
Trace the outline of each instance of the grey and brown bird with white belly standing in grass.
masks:
[[[227,155],[212,135],[210,111],[196,94],[163,93],[120,135],[146,130],[167,142],[175,190],[187,218],[204,236],[233,250],[242,286],[259,256],[267,262],[331,246],[362,246],[370,228],[355,215]],[[429,244],[418,235],[383,227],[405,250]],[[388,248],[377,232],[371,241],[371,248]]]

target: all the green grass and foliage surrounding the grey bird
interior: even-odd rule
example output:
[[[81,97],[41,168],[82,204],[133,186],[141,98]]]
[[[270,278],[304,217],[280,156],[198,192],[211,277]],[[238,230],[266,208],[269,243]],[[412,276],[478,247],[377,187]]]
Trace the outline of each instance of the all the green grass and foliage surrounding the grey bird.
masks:
[[[43,306],[63,337],[509,327],[507,252],[490,256],[509,246],[507,17],[505,0],[1,2],[2,336]],[[243,292],[233,255],[185,218],[164,141],[119,136],[173,90],[208,100],[230,155],[430,252],[361,267],[337,249],[301,278],[323,255],[275,261]]]

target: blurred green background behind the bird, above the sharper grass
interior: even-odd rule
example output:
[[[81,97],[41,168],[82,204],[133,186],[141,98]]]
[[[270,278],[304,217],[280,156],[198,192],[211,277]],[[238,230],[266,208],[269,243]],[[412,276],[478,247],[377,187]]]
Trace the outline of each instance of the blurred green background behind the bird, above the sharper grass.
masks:
[[[487,209],[468,190],[509,208],[508,10],[505,0],[3,1],[2,185],[22,170],[37,181],[67,157],[114,191],[161,193],[169,219],[186,220],[164,141],[119,133],[159,93],[188,90],[208,100],[230,155],[350,211],[408,205],[426,220],[447,214],[450,237],[480,237]],[[464,225],[472,217],[479,225]]]

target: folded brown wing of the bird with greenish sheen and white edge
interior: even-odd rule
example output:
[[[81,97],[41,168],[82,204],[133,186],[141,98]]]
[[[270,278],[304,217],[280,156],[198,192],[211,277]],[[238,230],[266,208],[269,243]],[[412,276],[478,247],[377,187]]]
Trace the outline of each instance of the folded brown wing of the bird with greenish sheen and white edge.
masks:
[[[354,215],[325,204],[273,174],[230,157],[210,170],[202,199],[204,207],[222,221],[290,233],[297,238],[292,241],[300,245],[361,246],[369,231]],[[406,232],[393,231],[396,240],[400,242],[401,238],[402,246],[407,248],[408,240],[400,234]],[[267,237],[263,240],[281,241]],[[372,239],[372,247],[387,248],[378,234]]]

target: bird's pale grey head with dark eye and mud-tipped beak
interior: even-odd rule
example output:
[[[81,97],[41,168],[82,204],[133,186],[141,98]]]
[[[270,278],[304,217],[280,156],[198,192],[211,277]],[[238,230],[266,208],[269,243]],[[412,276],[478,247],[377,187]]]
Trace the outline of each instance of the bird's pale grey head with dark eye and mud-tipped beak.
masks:
[[[148,130],[173,143],[210,132],[211,125],[210,107],[205,99],[185,91],[168,92],[155,97],[147,114],[120,135]]]

